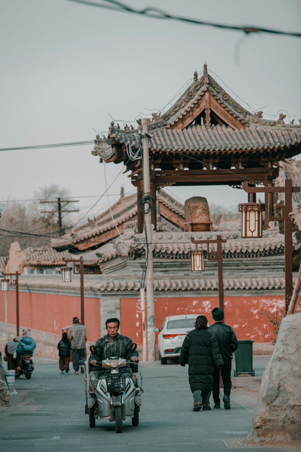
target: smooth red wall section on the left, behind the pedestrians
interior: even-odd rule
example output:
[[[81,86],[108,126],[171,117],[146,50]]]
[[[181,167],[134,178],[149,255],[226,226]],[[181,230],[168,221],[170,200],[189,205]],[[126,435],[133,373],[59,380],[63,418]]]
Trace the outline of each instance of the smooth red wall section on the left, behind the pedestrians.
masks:
[[[99,298],[85,298],[84,308],[87,340],[96,342],[101,334]],[[80,318],[80,297],[19,292],[20,325],[61,334],[61,328],[72,325],[75,316]],[[16,324],[16,293],[12,291],[7,292],[7,320],[10,324]],[[0,292],[0,321],[5,321],[4,292]]]

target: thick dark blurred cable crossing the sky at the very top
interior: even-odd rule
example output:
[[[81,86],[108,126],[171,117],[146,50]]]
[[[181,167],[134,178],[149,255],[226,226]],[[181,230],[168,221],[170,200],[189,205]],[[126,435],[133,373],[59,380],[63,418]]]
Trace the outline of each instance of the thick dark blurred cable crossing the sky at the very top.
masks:
[[[217,24],[214,22],[206,22],[203,20],[190,19],[188,17],[172,15],[170,13],[166,13],[165,11],[163,11],[162,9],[159,9],[159,8],[148,7],[148,8],[144,8],[144,9],[134,9],[134,8],[130,7],[129,5],[125,5],[125,3],[121,3],[116,0],[104,0],[114,6],[106,5],[104,3],[98,3],[96,1],[91,1],[91,0],[69,0],[69,1],[72,1],[74,3],[81,3],[82,5],[96,6],[98,8],[111,9],[112,11],[131,13],[131,14],[140,14],[140,15],[143,15],[144,17],[150,17],[153,19],[171,19],[171,20],[178,20],[181,22],[186,22],[188,24],[207,25],[210,27],[224,28],[227,30],[243,31],[246,34],[263,32],[263,33],[280,34],[280,35],[284,35],[284,36],[295,36],[297,38],[301,38],[301,33],[287,32],[287,31],[275,30],[275,29],[271,29],[271,28],[260,28],[260,27],[255,27],[255,26],[240,27],[240,26],[236,26],[236,25]]]

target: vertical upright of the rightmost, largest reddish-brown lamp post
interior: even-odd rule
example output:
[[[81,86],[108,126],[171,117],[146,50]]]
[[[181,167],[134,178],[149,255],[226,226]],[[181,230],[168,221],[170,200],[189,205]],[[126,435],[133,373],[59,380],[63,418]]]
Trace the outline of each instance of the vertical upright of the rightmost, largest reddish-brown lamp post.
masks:
[[[285,268],[285,313],[292,298],[292,179],[285,180],[284,188],[284,268]]]

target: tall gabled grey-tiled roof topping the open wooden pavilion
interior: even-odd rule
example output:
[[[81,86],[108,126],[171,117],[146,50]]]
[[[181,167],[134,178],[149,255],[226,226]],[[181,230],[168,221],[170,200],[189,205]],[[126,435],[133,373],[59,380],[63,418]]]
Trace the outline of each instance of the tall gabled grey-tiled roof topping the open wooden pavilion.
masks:
[[[208,74],[205,65],[201,78],[194,75],[193,83],[166,113],[153,113],[153,119],[149,120],[151,160],[158,155],[162,160],[162,155],[176,152],[185,153],[187,157],[196,154],[216,157],[219,154],[221,160],[229,155],[234,160],[230,162],[228,159],[229,165],[223,167],[230,169],[235,166],[238,169],[251,165],[240,156],[249,156],[253,166],[272,167],[279,160],[301,152],[300,125],[285,124],[282,113],[277,121],[261,116],[262,112],[251,114],[238,104]],[[92,154],[99,155],[101,161],[127,161],[127,147],[137,151],[140,146],[138,132],[141,128],[139,124],[138,131],[129,130],[127,126],[121,130],[112,123],[107,139],[97,137],[95,140]],[[259,154],[256,162],[254,154]],[[190,161],[190,165],[187,163],[184,167],[191,169],[193,163]],[[176,167],[175,162],[173,166]],[[127,162],[127,167],[136,174],[141,168],[140,161]],[[160,168],[160,163],[156,167]]]

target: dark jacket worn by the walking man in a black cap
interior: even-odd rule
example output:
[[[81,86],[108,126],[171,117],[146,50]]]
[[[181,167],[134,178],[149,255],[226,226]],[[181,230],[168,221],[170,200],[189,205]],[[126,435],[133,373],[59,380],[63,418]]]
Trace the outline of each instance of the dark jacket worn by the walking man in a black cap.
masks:
[[[222,355],[223,362],[231,363],[233,358],[232,353],[235,352],[238,347],[238,340],[231,326],[216,322],[213,323],[213,325],[210,325],[208,330],[214,334],[218,341],[218,348]]]

